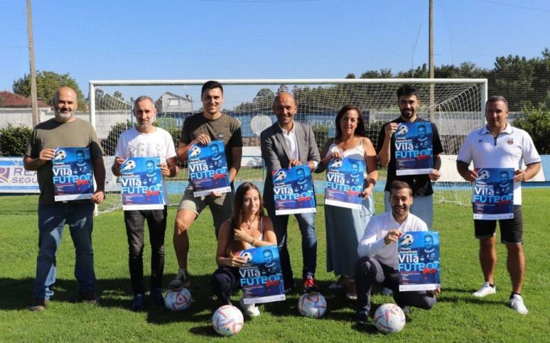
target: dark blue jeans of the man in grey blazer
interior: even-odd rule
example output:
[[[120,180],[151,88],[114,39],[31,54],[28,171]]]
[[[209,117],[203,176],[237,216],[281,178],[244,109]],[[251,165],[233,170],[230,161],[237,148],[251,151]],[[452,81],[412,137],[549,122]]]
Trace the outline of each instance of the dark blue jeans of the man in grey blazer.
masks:
[[[294,285],[294,276],[292,266],[290,265],[290,256],[287,248],[287,227],[289,215],[275,215],[274,209],[267,209],[273,222],[277,244],[279,248],[279,257],[281,259],[281,269],[283,270],[283,281],[285,288]],[[298,227],[302,233],[302,259],[303,270],[302,277],[314,277],[317,268],[317,236],[315,233],[315,213],[295,214],[298,220]]]

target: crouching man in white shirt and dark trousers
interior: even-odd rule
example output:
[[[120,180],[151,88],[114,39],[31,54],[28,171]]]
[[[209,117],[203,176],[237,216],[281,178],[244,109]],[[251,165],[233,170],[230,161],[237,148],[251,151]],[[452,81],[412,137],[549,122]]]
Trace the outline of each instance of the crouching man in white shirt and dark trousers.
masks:
[[[355,265],[357,287],[357,313],[355,321],[366,322],[371,311],[371,289],[374,283],[393,291],[393,298],[401,308],[413,306],[421,309],[434,307],[435,296],[441,292],[399,292],[397,241],[405,232],[427,231],[423,220],[410,213],[412,188],[407,182],[394,180],[390,186],[391,212],[375,215],[366,225],[357,248],[359,261]]]

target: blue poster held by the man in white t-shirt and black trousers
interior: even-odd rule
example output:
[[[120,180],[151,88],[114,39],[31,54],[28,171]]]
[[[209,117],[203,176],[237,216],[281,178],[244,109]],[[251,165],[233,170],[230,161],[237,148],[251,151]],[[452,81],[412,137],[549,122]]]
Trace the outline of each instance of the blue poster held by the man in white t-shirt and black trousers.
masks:
[[[160,157],[130,157],[120,165],[122,209],[164,209]]]

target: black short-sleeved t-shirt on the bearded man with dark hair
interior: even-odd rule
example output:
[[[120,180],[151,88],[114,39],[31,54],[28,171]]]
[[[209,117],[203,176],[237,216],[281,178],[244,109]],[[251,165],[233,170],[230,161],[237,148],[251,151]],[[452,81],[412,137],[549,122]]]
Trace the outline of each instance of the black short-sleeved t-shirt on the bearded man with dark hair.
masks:
[[[430,123],[429,121],[426,121],[424,119],[421,119],[420,117],[417,117],[415,120],[415,123],[423,121],[426,123]],[[403,123],[404,120],[401,119],[401,117],[390,121],[390,123]],[[382,127],[382,130],[380,130],[380,133],[378,134],[378,141],[376,144],[376,152],[379,153],[380,150],[382,150],[382,145],[384,145],[384,138],[386,137],[386,131],[384,131],[384,127],[388,125],[388,123],[384,124]],[[433,154],[436,156],[437,154],[441,154],[443,152],[443,145],[441,145],[441,139],[439,139],[439,132],[437,131],[437,126],[434,123],[430,123],[432,126],[432,148],[433,148]],[[428,174],[421,174],[421,175],[400,175],[397,176],[395,172],[395,135],[391,137],[391,143],[390,143],[390,162],[388,163],[388,176],[386,180],[386,187],[384,188],[385,191],[390,191],[391,182],[394,180],[399,180],[403,182],[407,182],[408,185],[412,188],[412,194],[414,196],[430,196],[434,193],[432,189],[432,182],[430,181],[430,178],[428,177]]]

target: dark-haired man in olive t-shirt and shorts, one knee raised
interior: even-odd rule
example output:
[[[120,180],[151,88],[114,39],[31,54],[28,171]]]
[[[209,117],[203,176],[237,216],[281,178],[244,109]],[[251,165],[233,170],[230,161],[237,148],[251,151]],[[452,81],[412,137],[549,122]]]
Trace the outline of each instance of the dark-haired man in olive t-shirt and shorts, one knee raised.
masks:
[[[223,86],[216,81],[208,81],[202,86],[202,113],[185,119],[181,129],[181,139],[177,146],[177,157],[180,162],[187,161],[188,150],[192,144],[208,145],[211,141],[223,141],[225,158],[228,163],[229,180],[233,189],[233,181],[241,167],[243,155],[243,138],[241,124],[236,119],[221,113],[223,104]],[[174,250],[176,252],[179,271],[168,287],[178,289],[188,287],[187,255],[189,252],[188,230],[201,211],[208,205],[214,219],[217,232],[224,220],[231,217],[233,211],[234,191],[230,193],[212,192],[208,196],[195,198],[191,181],[179,203],[179,209],[174,224]]]

